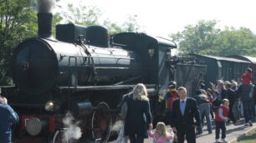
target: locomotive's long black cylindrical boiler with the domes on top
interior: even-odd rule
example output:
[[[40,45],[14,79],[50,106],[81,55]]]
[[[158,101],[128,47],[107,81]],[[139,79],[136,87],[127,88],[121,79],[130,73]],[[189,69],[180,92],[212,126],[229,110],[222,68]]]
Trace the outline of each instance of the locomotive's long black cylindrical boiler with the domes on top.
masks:
[[[40,17],[52,16],[38,13],[38,25],[43,28]],[[79,36],[72,42],[69,32],[76,30]],[[136,52],[109,46],[105,27],[58,25],[57,39],[50,33],[40,33],[40,29],[38,36],[22,42],[14,52],[13,79],[25,94],[41,95],[53,86],[118,85],[145,73]]]

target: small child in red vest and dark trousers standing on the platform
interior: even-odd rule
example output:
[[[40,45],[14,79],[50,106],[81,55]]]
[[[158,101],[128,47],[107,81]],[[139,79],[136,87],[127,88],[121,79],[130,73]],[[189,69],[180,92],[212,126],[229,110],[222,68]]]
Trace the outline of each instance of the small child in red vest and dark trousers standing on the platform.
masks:
[[[221,106],[218,107],[215,114],[215,122],[216,122],[216,143],[218,142],[228,142],[226,140],[226,121],[228,121],[228,111],[229,111],[229,101],[228,99],[223,99]],[[219,141],[219,132],[222,130],[222,140]]]

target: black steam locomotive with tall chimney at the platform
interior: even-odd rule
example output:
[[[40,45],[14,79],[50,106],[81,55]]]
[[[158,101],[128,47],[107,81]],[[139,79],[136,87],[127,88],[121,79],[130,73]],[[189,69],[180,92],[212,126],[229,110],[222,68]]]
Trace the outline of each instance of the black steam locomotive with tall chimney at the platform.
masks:
[[[2,88],[20,116],[15,143],[69,142],[70,124],[79,127],[76,141],[106,142],[121,96],[140,82],[154,112],[173,77],[174,42],[136,32],[109,37],[105,27],[74,24],[58,25],[55,39],[51,19],[51,13],[38,13],[38,37],[13,53],[15,86]],[[68,112],[74,116],[69,125]]]

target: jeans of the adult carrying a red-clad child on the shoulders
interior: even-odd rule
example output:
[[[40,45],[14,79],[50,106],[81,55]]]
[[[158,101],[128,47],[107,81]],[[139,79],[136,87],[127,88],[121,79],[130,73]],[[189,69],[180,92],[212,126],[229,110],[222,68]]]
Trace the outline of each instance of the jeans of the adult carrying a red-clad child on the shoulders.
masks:
[[[253,120],[253,99],[243,101],[243,116],[246,123]]]

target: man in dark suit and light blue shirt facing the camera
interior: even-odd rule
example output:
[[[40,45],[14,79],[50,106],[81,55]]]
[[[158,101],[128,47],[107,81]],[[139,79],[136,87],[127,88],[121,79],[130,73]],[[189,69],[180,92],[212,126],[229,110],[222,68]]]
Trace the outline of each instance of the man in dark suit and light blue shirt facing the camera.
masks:
[[[183,143],[185,136],[187,143],[196,143],[195,125],[200,126],[200,114],[197,101],[187,97],[187,89],[183,86],[179,87],[177,99],[172,106],[172,128],[177,130],[177,142]],[[196,123],[194,123],[194,118]]]

